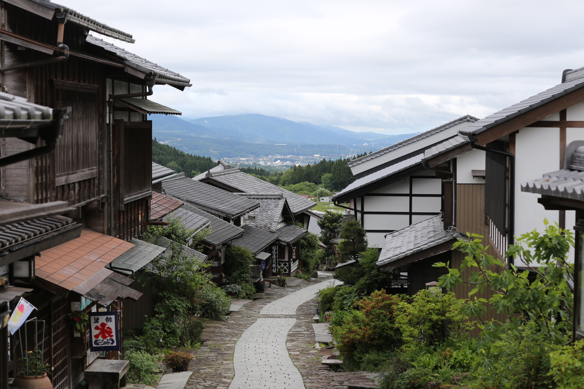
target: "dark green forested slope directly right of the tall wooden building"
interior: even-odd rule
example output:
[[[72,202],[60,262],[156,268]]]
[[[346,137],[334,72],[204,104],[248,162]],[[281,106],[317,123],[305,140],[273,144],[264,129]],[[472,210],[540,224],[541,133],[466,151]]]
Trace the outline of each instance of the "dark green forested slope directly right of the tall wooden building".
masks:
[[[158,143],[156,138],[152,139],[152,162],[169,167],[178,173],[184,171],[189,177],[194,177],[215,166],[211,157],[187,154],[172,146]]]

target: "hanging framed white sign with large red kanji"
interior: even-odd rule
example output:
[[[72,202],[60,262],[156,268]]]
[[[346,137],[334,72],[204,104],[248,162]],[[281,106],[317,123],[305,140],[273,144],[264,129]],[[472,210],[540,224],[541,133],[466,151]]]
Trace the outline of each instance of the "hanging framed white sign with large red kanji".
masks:
[[[117,311],[89,313],[90,351],[114,351],[120,349]]]

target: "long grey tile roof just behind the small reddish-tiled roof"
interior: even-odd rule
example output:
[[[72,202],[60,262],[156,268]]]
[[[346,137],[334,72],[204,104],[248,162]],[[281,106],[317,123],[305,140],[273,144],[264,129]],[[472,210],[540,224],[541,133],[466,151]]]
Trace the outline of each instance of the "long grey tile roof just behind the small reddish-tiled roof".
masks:
[[[162,181],[162,190],[165,194],[182,200],[187,199],[187,201],[223,212],[231,217],[249,212],[259,206],[259,202],[256,200],[242,198],[232,192],[186,177]]]

